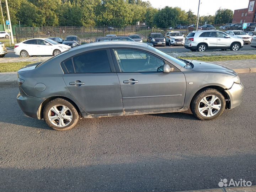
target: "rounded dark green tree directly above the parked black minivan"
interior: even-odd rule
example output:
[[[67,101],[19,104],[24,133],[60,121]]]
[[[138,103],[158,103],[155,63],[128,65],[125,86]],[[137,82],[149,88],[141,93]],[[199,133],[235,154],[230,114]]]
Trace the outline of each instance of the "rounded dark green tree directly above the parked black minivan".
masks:
[[[178,9],[166,6],[155,14],[154,23],[159,28],[168,28],[180,21],[178,17]]]

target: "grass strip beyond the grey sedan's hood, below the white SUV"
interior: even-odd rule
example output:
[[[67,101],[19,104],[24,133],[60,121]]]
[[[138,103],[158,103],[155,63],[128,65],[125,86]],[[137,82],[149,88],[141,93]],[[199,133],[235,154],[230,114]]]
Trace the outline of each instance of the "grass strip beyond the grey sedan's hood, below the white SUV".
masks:
[[[186,60],[199,60],[205,62],[212,61],[228,61],[228,60],[245,60],[245,59],[256,59],[256,55],[225,55],[225,56],[209,56],[209,57],[182,57]]]

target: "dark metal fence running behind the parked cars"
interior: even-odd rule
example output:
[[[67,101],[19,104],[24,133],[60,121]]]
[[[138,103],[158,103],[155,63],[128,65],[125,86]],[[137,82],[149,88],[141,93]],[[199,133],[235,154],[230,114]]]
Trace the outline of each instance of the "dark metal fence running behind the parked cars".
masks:
[[[182,34],[187,35],[193,31],[192,28],[187,29],[172,29],[174,31],[180,31]],[[141,26],[127,26],[126,28],[113,28],[113,27],[78,27],[78,26],[59,26],[59,27],[15,27],[16,40],[22,42],[31,38],[49,38],[76,35],[82,43],[95,42],[98,37],[105,37],[107,34],[116,34],[117,36],[129,36],[130,34],[139,34],[144,41],[148,37],[149,33],[158,32],[163,35],[167,31],[172,31],[169,28],[142,28]],[[217,29],[225,31],[223,29]]]

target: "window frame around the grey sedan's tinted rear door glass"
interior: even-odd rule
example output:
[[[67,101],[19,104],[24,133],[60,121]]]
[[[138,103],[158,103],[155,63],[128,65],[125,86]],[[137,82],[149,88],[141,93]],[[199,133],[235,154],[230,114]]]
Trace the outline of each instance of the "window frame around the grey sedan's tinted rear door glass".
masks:
[[[75,67],[74,67],[73,58],[78,56],[78,55],[82,55],[82,54],[85,54],[85,53],[90,53],[90,52],[94,52],[94,51],[98,51],[98,50],[106,50],[107,57],[108,57],[108,63],[110,65],[110,72],[101,72],[101,73],[116,73],[116,69],[114,67],[114,63],[113,63],[112,55],[111,55],[111,52],[110,52],[110,48],[99,48],[99,49],[88,50],[88,51],[85,51],[85,52],[82,52],[82,53],[78,53],[78,54],[72,55],[69,58],[66,58],[65,60],[60,62],[60,67],[62,68],[62,65],[65,66],[64,62],[66,62],[67,60],[71,59],[71,62],[72,62],[72,65],[73,65],[73,69],[74,69],[74,73],[65,73],[65,71],[62,68],[63,73],[64,74],[96,74],[96,73],[76,73],[76,70],[75,70]],[[65,68],[66,68],[66,66],[65,66]],[[100,73],[100,72],[97,72],[97,73]]]

